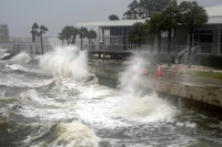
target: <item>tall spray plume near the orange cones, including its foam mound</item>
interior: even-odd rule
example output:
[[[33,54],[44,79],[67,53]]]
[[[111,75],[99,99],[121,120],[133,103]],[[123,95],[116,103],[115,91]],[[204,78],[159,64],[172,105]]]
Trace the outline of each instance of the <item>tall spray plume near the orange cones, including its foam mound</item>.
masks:
[[[142,69],[148,61],[137,54],[131,60],[124,73],[120,76],[121,98],[118,113],[129,119],[141,122],[157,122],[171,119],[176,111],[165,99],[160,98],[155,93],[148,93],[141,88],[147,84],[148,78],[142,74]]]

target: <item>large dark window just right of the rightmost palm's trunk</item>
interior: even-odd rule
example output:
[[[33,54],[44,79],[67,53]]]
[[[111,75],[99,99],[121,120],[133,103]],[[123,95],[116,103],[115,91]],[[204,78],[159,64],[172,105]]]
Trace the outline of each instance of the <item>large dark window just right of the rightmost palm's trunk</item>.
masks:
[[[194,46],[199,45],[199,53],[213,53],[213,30],[194,30]]]

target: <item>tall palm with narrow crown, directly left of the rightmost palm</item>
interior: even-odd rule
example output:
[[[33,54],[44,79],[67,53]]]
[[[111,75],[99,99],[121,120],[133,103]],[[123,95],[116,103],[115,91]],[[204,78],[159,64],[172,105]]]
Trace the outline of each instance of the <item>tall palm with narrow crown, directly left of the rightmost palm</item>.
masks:
[[[168,32],[168,53],[169,65],[171,65],[171,44],[173,29],[180,22],[180,10],[176,4],[169,4],[162,11],[162,23],[164,23],[163,30]]]

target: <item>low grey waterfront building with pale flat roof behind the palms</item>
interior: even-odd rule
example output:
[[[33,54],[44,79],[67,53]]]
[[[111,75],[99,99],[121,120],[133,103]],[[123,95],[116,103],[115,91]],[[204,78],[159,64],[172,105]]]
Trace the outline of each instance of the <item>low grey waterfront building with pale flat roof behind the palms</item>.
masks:
[[[193,46],[198,46],[200,55],[222,55],[222,6],[205,8],[209,21],[194,29]],[[135,22],[144,20],[119,20],[103,22],[79,22],[79,27],[99,27],[99,41],[101,38],[101,28],[109,28],[109,35],[105,35],[104,44],[113,46],[119,45],[119,50],[128,50],[130,42],[128,39],[128,30]],[[147,44],[149,45],[149,44]],[[155,40],[157,45],[157,40]],[[162,32],[161,52],[168,52],[167,34]],[[179,25],[173,29],[172,34],[172,53],[178,54],[188,46],[188,27]],[[157,48],[157,46],[155,46]],[[157,50],[155,50],[157,51]]]

